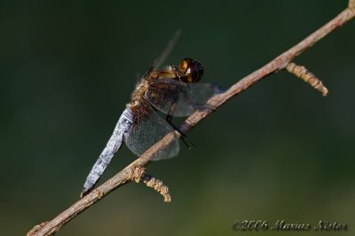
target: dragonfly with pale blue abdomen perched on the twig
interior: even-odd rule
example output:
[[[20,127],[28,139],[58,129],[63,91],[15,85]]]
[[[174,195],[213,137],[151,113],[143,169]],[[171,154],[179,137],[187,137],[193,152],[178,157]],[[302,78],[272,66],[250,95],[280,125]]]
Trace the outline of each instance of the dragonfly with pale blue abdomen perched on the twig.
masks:
[[[141,156],[154,143],[174,130],[181,134],[185,142],[185,133],[173,125],[172,117],[186,117],[196,110],[207,109],[209,107],[206,102],[209,98],[221,93],[221,88],[216,84],[198,83],[204,68],[200,62],[190,57],[182,59],[179,65],[167,65],[158,69],[170,53],[178,34],[175,34],[162,55],[138,82],[130,96],[130,103],[126,104],[114,127],[114,133],[85,180],[82,197],[99,181],[122,143],[136,156]],[[165,119],[159,113],[166,115]],[[178,151],[179,142],[175,139],[150,160],[177,156]]]

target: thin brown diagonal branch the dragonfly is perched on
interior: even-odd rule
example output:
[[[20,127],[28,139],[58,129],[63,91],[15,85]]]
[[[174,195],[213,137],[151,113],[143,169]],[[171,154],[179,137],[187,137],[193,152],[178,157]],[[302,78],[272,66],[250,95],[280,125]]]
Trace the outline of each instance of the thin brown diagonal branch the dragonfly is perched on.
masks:
[[[334,31],[337,27],[341,27],[344,23],[354,18],[354,16],[355,0],[350,0],[349,7],[336,16],[335,19],[330,20],[325,26],[320,27],[313,34],[306,37],[302,42],[299,42],[291,49],[288,49],[279,57],[274,58],[267,65],[264,65],[260,69],[256,70],[256,72],[252,72],[242,80],[238,81],[231,88],[225,91],[225,93],[216,95],[209,99],[208,107],[214,109],[199,110],[194,112],[193,115],[187,118],[182,126],[180,126],[180,130],[183,133],[188,132],[193,128],[193,126],[196,126],[201,122],[201,120],[209,116],[213,110],[217,109],[233,96],[240,94],[242,91],[246,90],[257,81],[262,80],[273,72],[278,72],[281,69],[286,68],[286,66],[288,66],[296,56],[304,52],[305,49],[312,47],[314,43],[319,42],[320,39]],[[162,150],[162,148],[167,147],[170,142],[177,137],[179,137],[179,133],[168,133],[164,138],[162,138],[161,141],[158,141],[153,147],[149,148],[146,153],[125,167],[122,171],[114,175],[113,178],[108,179],[101,186],[97,187],[90,194],[87,194],[78,202],[75,202],[75,204],[70,208],[60,213],[51,221],[42,223],[41,225],[36,225],[30,232],[28,232],[28,236],[52,235],[57,232],[60,227],[66,225],[78,214],[91,207],[92,204],[99,202],[100,199],[114,191],[114,189],[131,181],[149,181],[150,179],[146,175],[146,165],[150,164],[150,157],[154,156],[154,154]],[[153,186],[154,189],[158,189],[158,192],[162,195],[165,194],[164,198],[169,202],[170,195],[167,187],[164,187],[162,183],[157,183],[156,179],[154,180],[154,183],[151,182],[150,185]]]

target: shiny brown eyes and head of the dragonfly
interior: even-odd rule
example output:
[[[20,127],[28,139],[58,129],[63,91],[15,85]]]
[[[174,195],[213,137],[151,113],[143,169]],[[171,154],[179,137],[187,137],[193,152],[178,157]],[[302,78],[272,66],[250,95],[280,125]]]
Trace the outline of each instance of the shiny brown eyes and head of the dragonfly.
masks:
[[[185,83],[195,83],[201,80],[203,67],[198,61],[191,58],[184,58],[180,63],[180,70],[184,73],[182,80]]]

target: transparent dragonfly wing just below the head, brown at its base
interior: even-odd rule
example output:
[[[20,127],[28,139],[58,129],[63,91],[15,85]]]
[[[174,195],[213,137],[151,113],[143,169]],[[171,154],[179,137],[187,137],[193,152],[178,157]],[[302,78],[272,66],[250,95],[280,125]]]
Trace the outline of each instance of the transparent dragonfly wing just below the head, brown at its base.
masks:
[[[146,91],[146,100],[165,114],[186,117],[222,90],[215,84],[184,83],[178,80],[154,80]]]

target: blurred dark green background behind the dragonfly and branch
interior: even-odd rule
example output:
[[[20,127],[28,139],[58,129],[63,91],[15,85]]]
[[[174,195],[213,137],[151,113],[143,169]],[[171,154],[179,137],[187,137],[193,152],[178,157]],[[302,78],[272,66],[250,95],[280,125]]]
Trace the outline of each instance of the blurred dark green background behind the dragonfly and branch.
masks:
[[[347,1],[2,1],[2,235],[24,235],[78,200],[83,181],[145,72],[177,29],[167,64],[199,59],[224,88],[342,11]],[[296,58],[322,97],[278,72],[188,133],[196,148],[148,167],[173,202],[122,187],[58,235],[272,235],[234,220],[355,227],[355,22]],[[122,148],[105,172],[135,156]],[[282,233],[282,232],[280,232]],[[284,232],[298,235],[299,232]],[[304,232],[303,232],[304,233]],[[302,234],[302,233],[301,233]],[[312,232],[312,235],[325,235]]]

